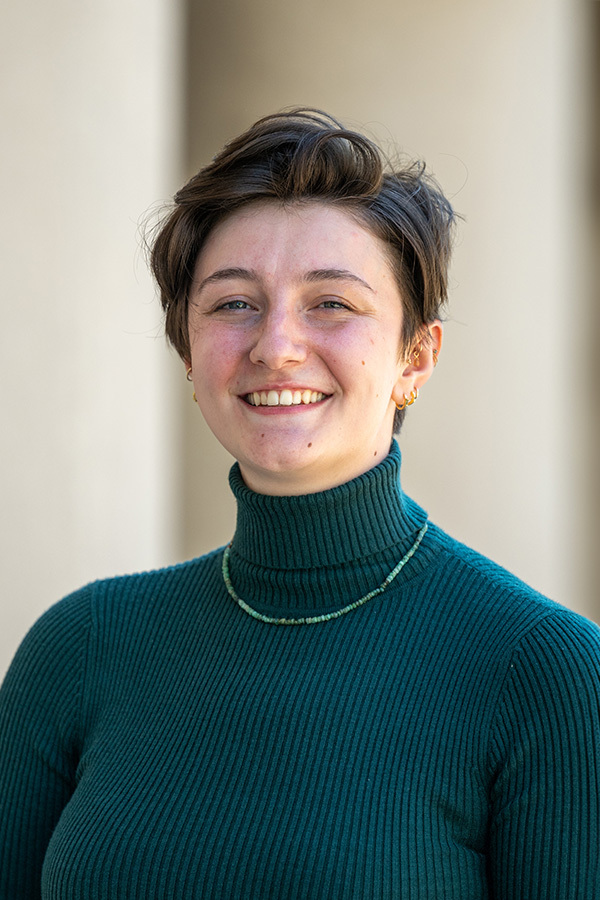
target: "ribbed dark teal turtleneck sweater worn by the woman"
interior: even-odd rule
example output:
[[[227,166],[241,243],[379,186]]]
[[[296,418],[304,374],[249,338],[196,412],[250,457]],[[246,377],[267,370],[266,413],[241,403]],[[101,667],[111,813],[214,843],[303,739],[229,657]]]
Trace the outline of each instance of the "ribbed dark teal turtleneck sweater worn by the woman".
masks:
[[[235,592],[327,616],[426,515],[399,451],[234,467]],[[600,633],[429,523],[379,595],[273,625],[223,551],[53,607],[0,694],[1,900],[597,900]]]

